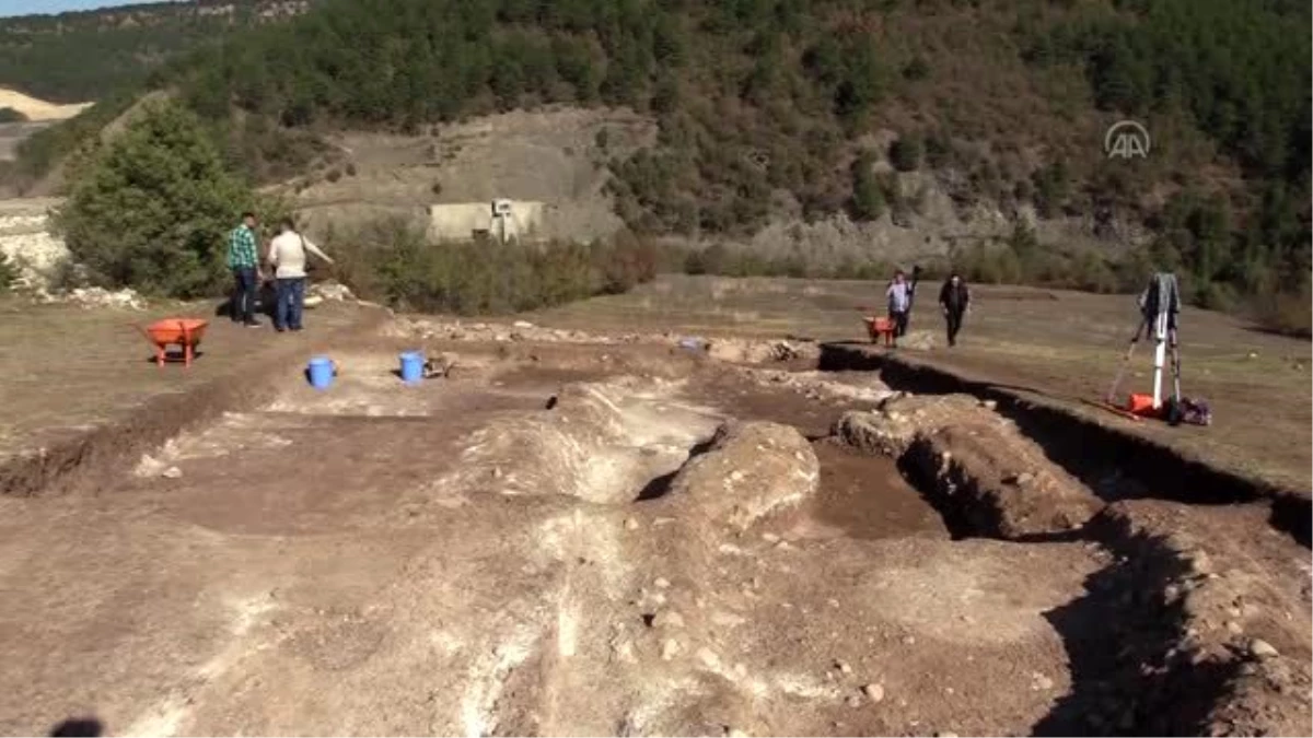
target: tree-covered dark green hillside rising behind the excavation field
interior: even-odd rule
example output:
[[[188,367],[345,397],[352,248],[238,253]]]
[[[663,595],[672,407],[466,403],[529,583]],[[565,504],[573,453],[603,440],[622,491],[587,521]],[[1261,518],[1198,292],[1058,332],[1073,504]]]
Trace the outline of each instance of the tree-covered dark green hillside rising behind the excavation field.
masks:
[[[1132,281],[1176,268],[1221,305],[1313,284],[1308,32],[1313,13],[1276,0],[327,0],[152,81],[265,181],[323,160],[324,131],[628,108],[659,129],[607,162],[639,231],[806,259],[826,234],[878,251],[983,217],[999,226],[951,257],[1002,263],[994,278],[1107,286],[1132,252]],[[1128,117],[1148,159],[1103,148]],[[1036,221],[1100,256],[1052,259]]]

